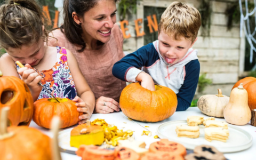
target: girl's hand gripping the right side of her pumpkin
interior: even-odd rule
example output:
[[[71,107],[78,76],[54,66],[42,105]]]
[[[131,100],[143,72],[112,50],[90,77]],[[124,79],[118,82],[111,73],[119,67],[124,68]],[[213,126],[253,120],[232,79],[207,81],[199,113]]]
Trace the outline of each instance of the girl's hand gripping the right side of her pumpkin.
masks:
[[[76,102],[77,111],[84,113],[78,117],[81,120],[78,124],[86,123],[87,119],[90,119],[91,117],[90,108],[86,107],[86,103],[78,96],[76,96],[72,101]]]

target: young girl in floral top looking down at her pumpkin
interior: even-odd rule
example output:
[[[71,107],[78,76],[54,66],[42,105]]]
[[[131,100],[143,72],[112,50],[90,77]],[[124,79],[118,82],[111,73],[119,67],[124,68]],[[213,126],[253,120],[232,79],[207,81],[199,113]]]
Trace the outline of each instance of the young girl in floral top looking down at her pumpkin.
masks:
[[[94,94],[73,53],[63,47],[45,45],[46,23],[35,0],[6,1],[0,7],[0,45],[7,53],[0,58],[0,69],[5,76],[21,78],[34,101],[51,97],[38,85],[40,81],[55,97],[77,101],[77,110],[84,113],[79,116],[79,124],[85,123],[93,113]],[[15,61],[26,65],[20,68]]]

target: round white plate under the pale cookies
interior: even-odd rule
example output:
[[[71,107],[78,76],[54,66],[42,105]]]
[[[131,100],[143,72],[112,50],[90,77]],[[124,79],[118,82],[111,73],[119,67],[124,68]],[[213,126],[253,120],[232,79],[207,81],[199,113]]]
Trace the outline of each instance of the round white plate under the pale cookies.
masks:
[[[229,139],[227,142],[221,142],[217,140],[212,140],[209,142],[204,138],[204,125],[199,125],[199,138],[177,137],[175,129],[177,125],[181,124],[187,124],[187,121],[171,121],[159,125],[157,128],[158,137],[181,143],[187,149],[194,149],[199,145],[214,146],[222,153],[241,151],[252,146],[252,135],[232,125],[228,125]]]

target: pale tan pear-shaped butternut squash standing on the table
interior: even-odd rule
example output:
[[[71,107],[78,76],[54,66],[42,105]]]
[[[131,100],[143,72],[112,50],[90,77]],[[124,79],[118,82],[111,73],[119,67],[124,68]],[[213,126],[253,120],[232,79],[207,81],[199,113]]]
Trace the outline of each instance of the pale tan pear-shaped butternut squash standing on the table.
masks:
[[[224,109],[224,118],[228,123],[245,125],[251,120],[251,110],[248,106],[248,93],[241,83],[230,93],[230,100]]]

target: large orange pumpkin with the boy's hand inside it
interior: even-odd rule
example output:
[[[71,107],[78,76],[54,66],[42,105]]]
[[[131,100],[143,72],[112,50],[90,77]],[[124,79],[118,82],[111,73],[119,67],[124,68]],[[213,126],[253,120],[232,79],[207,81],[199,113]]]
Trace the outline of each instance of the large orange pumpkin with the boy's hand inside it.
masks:
[[[176,94],[165,86],[155,88],[156,91],[150,91],[140,83],[127,85],[120,97],[123,113],[142,122],[158,122],[172,116],[178,105]]]

